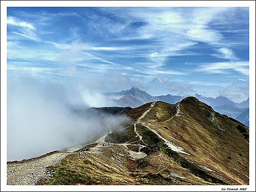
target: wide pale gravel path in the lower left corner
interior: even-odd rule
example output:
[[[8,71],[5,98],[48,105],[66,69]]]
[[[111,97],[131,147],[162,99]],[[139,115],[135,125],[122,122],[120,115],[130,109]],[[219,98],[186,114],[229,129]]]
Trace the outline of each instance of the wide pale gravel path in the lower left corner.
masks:
[[[57,165],[70,153],[58,152],[39,159],[7,164],[7,185],[35,185],[43,178],[50,178],[48,166]]]

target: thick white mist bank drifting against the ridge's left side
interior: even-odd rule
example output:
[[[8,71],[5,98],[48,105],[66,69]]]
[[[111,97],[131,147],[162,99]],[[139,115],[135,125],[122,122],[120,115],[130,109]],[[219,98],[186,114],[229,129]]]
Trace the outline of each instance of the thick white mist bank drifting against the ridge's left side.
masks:
[[[95,90],[92,92],[86,86],[83,88],[76,84],[43,82],[32,78],[9,78],[7,161],[30,159],[50,151],[63,150],[122,128],[126,117],[103,112],[94,115],[92,110],[88,116],[74,112],[75,108],[111,106]]]

